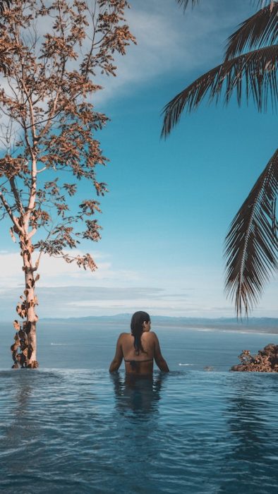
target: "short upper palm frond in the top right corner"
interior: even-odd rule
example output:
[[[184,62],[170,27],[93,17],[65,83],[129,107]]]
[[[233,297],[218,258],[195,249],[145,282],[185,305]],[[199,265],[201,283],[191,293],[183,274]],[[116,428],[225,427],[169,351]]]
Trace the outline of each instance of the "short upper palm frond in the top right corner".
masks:
[[[274,1],[241,23],[240,28],[228,38],[225,59],[234,58],[243,52],[243,49],[259,48],[264,44],[276,43],[277,16],[278,2]]]

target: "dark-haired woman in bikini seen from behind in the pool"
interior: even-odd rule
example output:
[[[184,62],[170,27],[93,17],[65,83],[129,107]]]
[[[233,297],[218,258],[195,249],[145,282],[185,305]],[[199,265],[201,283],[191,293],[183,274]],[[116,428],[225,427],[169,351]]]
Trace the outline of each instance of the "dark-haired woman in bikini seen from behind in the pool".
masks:
[[[128,374],[152,374],[153,359],[160,370],[169,372],[157,335],[150,332],[150,315],[146,312],[135,312],[131,318],[131,333],[121,333],[119,336],[109,372],[118,370],[123,359]]]

